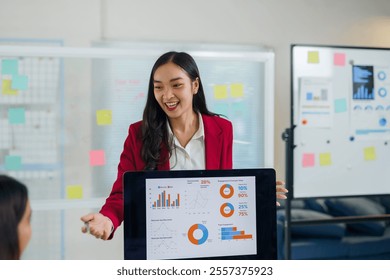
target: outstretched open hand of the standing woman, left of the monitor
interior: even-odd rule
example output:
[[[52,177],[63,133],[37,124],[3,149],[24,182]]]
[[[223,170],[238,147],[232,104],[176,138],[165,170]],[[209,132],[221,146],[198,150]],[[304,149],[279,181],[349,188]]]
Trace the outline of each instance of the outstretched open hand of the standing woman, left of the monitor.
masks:
[[[112,221],[100,213],[90,213],[81,217],[84,226],[81,227],[83,233],[90,233],[96,238],[107,240],[113,230]]]

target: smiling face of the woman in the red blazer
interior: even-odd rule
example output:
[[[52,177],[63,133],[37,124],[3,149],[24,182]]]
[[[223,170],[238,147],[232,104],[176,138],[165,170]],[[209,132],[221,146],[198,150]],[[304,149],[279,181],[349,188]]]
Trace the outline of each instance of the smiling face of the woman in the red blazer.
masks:
[[[154,97],[168,118],[186,118],[193,113],[193,96],[198,92],[198,79],[192,81],[179,66],[168,62],[157,68],[153,77]]]

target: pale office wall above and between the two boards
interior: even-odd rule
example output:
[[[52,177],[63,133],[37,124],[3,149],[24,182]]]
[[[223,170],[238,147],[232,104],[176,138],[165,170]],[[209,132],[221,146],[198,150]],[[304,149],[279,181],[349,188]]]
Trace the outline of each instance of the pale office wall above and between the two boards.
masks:
[[[280,135],[290,125],[290,44],[390,47],[388,0],[0,0],[0,5],[0,38],[63,39],[75,47],[102,39],[271,47],[280,179],[285,176]],[[76,109],[82,114],[82,106]]]

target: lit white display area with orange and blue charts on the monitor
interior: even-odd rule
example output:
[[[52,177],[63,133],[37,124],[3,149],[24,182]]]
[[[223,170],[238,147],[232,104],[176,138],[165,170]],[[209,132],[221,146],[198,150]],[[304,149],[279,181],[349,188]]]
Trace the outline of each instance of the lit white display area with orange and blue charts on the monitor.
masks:
[[[255,177],[146,179],[147,259],[256,255]]]

